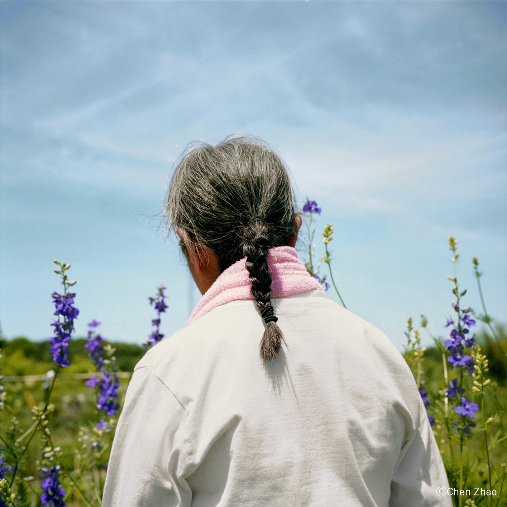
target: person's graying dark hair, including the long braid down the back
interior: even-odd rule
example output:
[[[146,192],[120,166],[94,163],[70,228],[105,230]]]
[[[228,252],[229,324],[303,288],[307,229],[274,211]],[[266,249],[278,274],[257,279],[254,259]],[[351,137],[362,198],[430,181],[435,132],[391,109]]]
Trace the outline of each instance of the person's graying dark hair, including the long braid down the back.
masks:
[[[280,157],[256,137],[194,143],[176,166],[164,212],[170,228],[213,251],[222,271],[246,257],[252,296],[266,322],[261,356],[274,359],[283,336],[271,305],[267,255],[295,232],[294,192]]]

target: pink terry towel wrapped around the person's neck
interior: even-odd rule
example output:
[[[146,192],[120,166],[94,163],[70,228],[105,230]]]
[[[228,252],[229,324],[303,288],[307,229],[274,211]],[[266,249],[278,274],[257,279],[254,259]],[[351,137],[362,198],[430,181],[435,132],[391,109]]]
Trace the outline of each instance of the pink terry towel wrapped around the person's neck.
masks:
[[[251,294],[246,258],[229,266],[209,287],[190,315],[187,325],[213,308],[231,301],[255,299]],[[322,291],[300,261],[296,250],[290,246],[276,246],[268,252],[271,272],[271,298],[284,298],[306,291]]]

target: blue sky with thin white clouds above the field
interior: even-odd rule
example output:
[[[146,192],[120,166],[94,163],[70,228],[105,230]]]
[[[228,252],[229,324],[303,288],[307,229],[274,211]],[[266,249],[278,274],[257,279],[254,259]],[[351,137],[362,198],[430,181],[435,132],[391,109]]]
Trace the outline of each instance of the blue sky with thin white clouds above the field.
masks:
[[[411,316],[445,333],[450,236],[464,301],[482,312],[477,257],[505,322],[506,55],[504,2],[0,2],[4,336],[51,335],[53,259],[77,336],[96,319],[142,343],[161,283],[161,331],[183,327],[199,295],[164,231],[168,180],[189,142],[236,132],[318,202],[316,255],[332,223],[347,308],[397,348]]]

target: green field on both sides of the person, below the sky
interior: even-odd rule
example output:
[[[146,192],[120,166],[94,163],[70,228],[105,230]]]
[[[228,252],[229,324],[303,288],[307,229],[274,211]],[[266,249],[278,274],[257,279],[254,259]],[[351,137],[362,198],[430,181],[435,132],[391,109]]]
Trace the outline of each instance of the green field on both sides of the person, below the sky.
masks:
[[[478,342],[482,345],[482,352],[489,357],[488,376],[491,379],[491,383],[487,386],[488,396],[485,396],[484,405],[484,419],[493,417],[493,421],[487,428],[488,454],[492,470],[491,487],[488,463],[485,458],[485,431],[481,429],[485,420],[481,419],[481,414],[476,414],[477,427],[464,440],[460,440],[458,431],[442,422],[446,417],[443,397],[446,388],[445,361],[443,361],[442,352],[437,347],[422,351],[416,346],[414,350],[418,352],[415,353],[415,363],[414,350],[408,351],[406,358],[416,378],[417,368],[420,368],[419,381],[428,391],[431,403],[428,413],[437,419],[433,429],[448,470],[450,485],[458,489],[461,489],[460,485],[464,485],[463,489],[471,490],[468,499],[466,495],[454,496],[455,504],[507,505],[507,488],[503,485],[504,477],[502,477],[502,473],[505,473],[502,463],[507,456],[504,440],[507,434],[507,422],[503,417],[507,400],[507,360],[503,350],[507,347],[507,338],[501,331],[501,339],[498,342],[483,330],[479,333]],[[101,416],[95,407],[97,399],[95,389],[84,385],[85,379],[93,373],[92,365],[87,357],[88,350],[84,348],[85,343],[85,339],[71,341],[72,364],[60,369],[58,373],[58,381],[55,382],[51,393],[51,403],[54,408],[50,409],[47,416],[48,426],[51,428],[51,444],[56,448],[58,461],[64,470],[62,482],[67,492],[65,499],[67,505],[100,505],[105,478],[104,465],[107,462],[114,435],[114,431],[101,434],[93,429]],[[130,372],[144,350],[137,345],[124,343],[113,345],[116,348],[116,363],[121,377],[119,398],[122,402]],[[15,426],[16,434],[11,435],[13,437],[11,441],[14,441],[21,438],[23,432],[32,425],[31,409],[34,406],[44,405],[45,393],[50,384],[46,374],[54,370],[55,365],[48,352],[47,343],[34,343],[26,338],[15,338],[10,341],[2,340],[0,346],[3,355],[0,364],[3,367],[2,374],[5,375],[3,384],[6,397],[5,409],[0,412],[2,414],[0,434],[9,437],[11,431],[9,428]],[[13,416],[17,419],[17,424],[14,426]],[[111,418],[112,425],[114,421],[115,418]],[[21,440],[18,452],[23,445],[26,445],[27,440],[28,437]],[[93,442],[97,445],[96,449],[92,449]],[[40,505],[38,468],[43,458],[42,448],[46,447],[46,450],[48,448],[46,444],[42,441],[41,445],[41,436],[36,434],[28,445],[18,472],[20,480],[17,481],[14,489],[17,495],[14,505]],[[5,446],[3,446],[3,454],[9,458],[9,452]],[[494,494],[474,495],[476,488],[479,488],[479,493],[491,488]],[[23,497],[26,499],[24,500]]]

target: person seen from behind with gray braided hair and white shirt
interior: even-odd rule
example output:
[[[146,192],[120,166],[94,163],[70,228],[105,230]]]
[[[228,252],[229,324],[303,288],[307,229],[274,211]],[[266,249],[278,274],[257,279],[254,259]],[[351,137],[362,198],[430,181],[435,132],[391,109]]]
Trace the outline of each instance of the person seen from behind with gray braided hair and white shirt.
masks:
[[[203,296],[134,369],[104,507],[450,507],[402,355],[298,257],[274,150],[194,144],[165,216]]]

